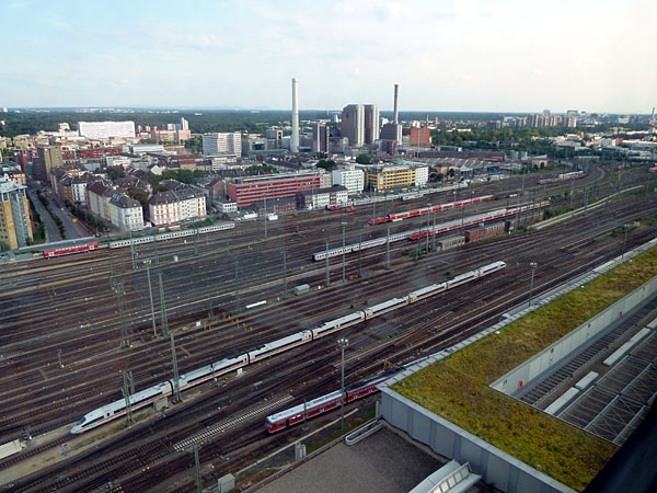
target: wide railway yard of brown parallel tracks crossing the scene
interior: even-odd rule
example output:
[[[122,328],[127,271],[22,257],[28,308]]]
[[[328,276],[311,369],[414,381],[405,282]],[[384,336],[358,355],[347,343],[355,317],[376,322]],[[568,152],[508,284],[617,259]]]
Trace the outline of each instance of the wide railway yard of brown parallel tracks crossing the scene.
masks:
[[[0,489],[195,491],[194,446],[199,447],[206,483],[302,435],[300,427],[268,435],[265,416],[339,389],[337,337],[349,340],[347,383],[370,379],[387,366],[466,339],[526,301],[530,262],[539,265],[533,291],[541,293],[657,234],[657,194],[646,186],[646,167],[620,173],[595,167],[584,179],[539,185],[538,180],[548,175],[474,183],[457,193],[364,205],[355,211],[243,221],[229,230],[132,249],[105,248],[1,265],[0,444],[21,437],[25,426],[34,439],[21,452],[0,460]],[[442,210],[435,218],[423,215],[368,225],[373,218],[429,203],[486,194],[495,198]],[[606,203],[588,209],[606,197]],[[439,252],[426,250],[434,241],[463,231],[389,243],[388,259],[383,244],[313,260],[313,253],[343,243],[385,238],[388,228],[390,234],[417,231],[429,221],[463,221],[545,200],[552,211],[587,210],[545,228],[516,228]],[[518,225],[530,217],[533,211],[509,221]],[[150,262],[148,270],[145,261]],[[125,420],[117,419],[81,435],[70,434],[85,413],[123,399],[123,370],[131,371],[136,391],[173,378],[170,337],[162,334],[161,297],[175,337],[177,367],[185,374],[497,261],[506,268],[249,365],[241,376],[232,371],[217,382],[209,380],[184,392],[183,402],[166,410],[136,411],[136,422],[127,428]],[[293,288],[303,284],[310,291],[295,296]],[[246,310],[265,300],[266,305]],[[366,402],[373,405],[373,398]],[[328,413],[309,425],[333,419]]]

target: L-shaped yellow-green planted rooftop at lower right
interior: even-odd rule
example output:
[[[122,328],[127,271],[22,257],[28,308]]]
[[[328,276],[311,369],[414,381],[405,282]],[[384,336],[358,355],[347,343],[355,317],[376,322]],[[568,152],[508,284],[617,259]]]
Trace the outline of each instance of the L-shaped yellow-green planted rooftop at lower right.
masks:
[[[653,248],[392,389],[581,491],[618,447],[488,386],[656,275]]]

